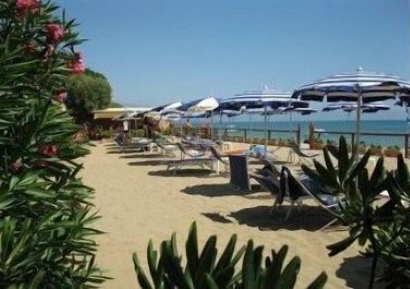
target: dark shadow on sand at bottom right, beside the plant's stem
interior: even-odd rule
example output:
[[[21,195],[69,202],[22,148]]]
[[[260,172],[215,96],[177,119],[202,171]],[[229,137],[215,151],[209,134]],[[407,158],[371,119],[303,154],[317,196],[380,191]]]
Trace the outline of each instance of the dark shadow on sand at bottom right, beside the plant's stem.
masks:
[[[380,262],[378,262],[376,277],[381,274]],[[344,258],[340,268],[336,271],[336,276],[346,280],[346,287],[349,288],[367,288],[372,268],[372,258],[363,256],[354,256]],[[384,284],[377,282],[373,286],[374,289],[385,288]]]

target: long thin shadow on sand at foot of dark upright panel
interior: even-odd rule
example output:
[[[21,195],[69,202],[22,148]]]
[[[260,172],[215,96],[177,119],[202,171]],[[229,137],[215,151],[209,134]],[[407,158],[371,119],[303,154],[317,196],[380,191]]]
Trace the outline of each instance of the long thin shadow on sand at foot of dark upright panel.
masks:
[[[232,190],[229,184],[202,184],[197,186],[186,187],[181,192],[191,195],[200,195],[205,197],[226,197],[226,196],[247,196],[262,192],[261,186],[252,185],[252,191]]]

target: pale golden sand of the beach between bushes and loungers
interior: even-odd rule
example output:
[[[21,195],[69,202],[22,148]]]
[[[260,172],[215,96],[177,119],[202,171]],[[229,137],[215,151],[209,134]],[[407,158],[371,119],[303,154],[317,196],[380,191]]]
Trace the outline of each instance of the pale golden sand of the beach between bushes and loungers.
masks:
[[[138,288],[132,253],[146,264],[150,238],[158,248],[173,231],[178,248],[184,251],[189,226],[197,222],[201,246],[211,234],[218,236],[220,251],[231,234],[239,243],[250,238],[265,245],[265,253],[288,244],[289,259],[302,258],[297,288],[304,288],[326,271],[326,288],[365,288],[370,263],[362,260],[356,245],[335,257],[328,257],[326,245],[341,240],[346,231],[319,231],[329,219],[313,202],[306,201],[302,212],[295,210],[285,221],[282,208],[269,214],[274,199],[254,186],[254,192],[235,192],[228,177],[209,171],[184,170],[176,176],[165,171],[161,157],[152,153],[119,153],[112,145],[97,144],[84,159],[85,184],[96,190],[95,205],[102,216],[97,263],[113,277],[103,288]]]

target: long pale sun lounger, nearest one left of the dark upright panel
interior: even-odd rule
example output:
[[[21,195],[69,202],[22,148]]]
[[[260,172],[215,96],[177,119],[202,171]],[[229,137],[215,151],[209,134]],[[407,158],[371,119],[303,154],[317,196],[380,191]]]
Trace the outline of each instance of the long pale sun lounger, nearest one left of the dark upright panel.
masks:
[[[167,171],[173,168],[173,175],[175,175],[176,172],[182,166],[197,165],[197,166],[200,166],[201,168],[205,168],[205,165],[208,165],[210,166],[210,168],[213,168],[213,162],[215,161],[215,158],[207,157],[205,153],[202,153],[200,151],[195,151],[192,149],[188,150],[180,143],[177,143],[176,147],[180,149],[182,153],[182,158],[180,160],[169,160],[167,162]]]

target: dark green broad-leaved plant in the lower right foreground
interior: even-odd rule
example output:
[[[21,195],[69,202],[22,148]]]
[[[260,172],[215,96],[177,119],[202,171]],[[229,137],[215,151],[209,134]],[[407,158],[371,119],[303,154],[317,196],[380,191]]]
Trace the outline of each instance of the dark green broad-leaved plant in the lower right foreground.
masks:
[[[348,155],[348,148],[343,137],[339,151],[335,153],[338,169],[333,166],[328,150],[324,149],[326,166],[315,161],[316,171],[303,166],[303,170],[322,186],[327,194],[336,194],[341,200],[338,209],[330,212],[344,225],[348,225],[349,236],[340,242],[329,245],[329,255],[344,251],[356,240],[359,245],[369,245],[367,255],[372,257],[369,288],[374,285],[378,258],[385,260],[383,281],[395,284],[392,288],[405,284],[400,280],[409,280],[408,267],[409,208],[402,201],[409,201],[410,177],[407,166],[398,156],[397,171],[385,172],[383,158],[379,158],[372,175],[366,164],[370,157],[367,151],[363,158],[355,161],[356,155]],[[382,201],[381,192],[388,190],[389,199]]]

